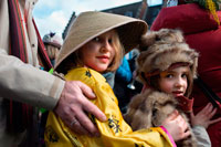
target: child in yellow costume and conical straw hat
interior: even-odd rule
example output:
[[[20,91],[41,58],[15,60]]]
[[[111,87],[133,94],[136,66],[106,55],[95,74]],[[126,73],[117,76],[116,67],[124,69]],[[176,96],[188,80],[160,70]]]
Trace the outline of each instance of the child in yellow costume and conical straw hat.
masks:
[[[93,115],[85,114],[101,132],[99,137],[90,137],[67,127],[80,126],[77,117],[70,124],[64,124],[50,112],[44,137],[46,146],[160,147],[172,146],[173,139],[182,139],[189,135],[189,132],[185,132],[187,124],[183,118],[176,114],[165,120],[167,129],[161,126],[133,132],[123,119],[113,90],[102,76],[118,67],[124,49],[128,51],[135,48],[146,31],[147,24],[144,21],[117,14],[84,12],[76,18],[64,41],[55,70],[65,74],[67,81],[87,84],[97,96],[92,102],[105,113],[107,122],[101,123]]]

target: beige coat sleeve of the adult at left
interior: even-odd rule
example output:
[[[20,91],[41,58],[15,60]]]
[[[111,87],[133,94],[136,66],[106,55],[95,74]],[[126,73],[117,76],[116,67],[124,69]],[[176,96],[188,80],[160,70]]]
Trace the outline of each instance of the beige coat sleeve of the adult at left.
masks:
[[[0,97],[53,109],[64,81],[0,49]]]

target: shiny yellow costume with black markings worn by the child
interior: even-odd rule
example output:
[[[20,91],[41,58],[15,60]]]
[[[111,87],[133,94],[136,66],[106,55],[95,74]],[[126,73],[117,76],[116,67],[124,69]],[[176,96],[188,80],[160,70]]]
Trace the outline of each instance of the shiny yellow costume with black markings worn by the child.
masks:
[[[67,81],[82,81],[87,84],[96,94],[92,102],[104,112],[107,122],[101,123],[90,115],[101,132],[101,137],[90,137],[74,134],[64,125],[60,117],[50,112],[45,128],[46,146],[53,147],[169,147],[172,141],[161,127],[133,132],[129,125],[123,119],[118,107],[118,101],[112,87],[98,72],[78,67],[71,70],[65,78]],[[140,116],[141,117],[141,116]]]

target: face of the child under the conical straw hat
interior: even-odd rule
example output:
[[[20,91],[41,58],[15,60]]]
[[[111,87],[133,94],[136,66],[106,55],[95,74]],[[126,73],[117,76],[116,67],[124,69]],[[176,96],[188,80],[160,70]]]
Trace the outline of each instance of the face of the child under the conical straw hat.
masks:
[[[115,56],[113,38],[116,31],[112,30],[86,43],[81,49],[81,59],[85,66],[97,72],[104,72]]]

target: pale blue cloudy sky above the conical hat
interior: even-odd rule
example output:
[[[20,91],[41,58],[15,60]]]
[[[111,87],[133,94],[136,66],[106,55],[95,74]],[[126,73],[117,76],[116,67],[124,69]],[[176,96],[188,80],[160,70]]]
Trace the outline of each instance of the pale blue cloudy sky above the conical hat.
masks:
[[[73,12],[104,10],[141,0],[39,0],[33,17],[41,36],[50,31],[60,35],[64,31]],[[161,3],[161,0],[148,0],[149,6]]]

